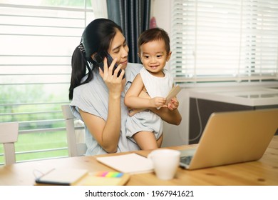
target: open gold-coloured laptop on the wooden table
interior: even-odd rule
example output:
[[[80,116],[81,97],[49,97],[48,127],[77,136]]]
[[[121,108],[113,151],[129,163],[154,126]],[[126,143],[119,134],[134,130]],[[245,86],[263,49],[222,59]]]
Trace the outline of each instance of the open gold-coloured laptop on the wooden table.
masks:
[[[210,115],[196,149],[180,150],[180,166],[202,169],[262,158],[278,129],[278,109]]]

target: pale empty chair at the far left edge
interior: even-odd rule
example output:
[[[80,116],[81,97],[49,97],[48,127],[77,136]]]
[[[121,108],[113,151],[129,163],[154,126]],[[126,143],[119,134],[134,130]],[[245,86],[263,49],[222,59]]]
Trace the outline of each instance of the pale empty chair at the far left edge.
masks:
[[[0,143],[4,146],[5,164],[16,163],[16,152],[14,143],[19,136],[19,123],[6,122],[0,123]]]

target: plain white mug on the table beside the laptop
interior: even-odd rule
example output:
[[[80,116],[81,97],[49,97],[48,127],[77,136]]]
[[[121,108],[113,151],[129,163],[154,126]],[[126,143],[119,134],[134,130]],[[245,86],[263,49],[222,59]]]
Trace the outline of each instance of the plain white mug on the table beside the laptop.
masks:
[[[173,149],[155,149],[148,154],[153,162],[158,179],[173,179],[180,163],[180,151]]]

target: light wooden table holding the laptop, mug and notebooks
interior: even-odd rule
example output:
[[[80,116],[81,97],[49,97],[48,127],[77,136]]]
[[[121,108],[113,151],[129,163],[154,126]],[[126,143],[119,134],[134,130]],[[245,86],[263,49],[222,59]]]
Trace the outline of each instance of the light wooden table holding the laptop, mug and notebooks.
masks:
[[[173,146],[169,149],[190,149],[195,145]],[[147,155],[150,151],[135,151]],[[109,154],[108,156],[110,156]],[[71,167],[88,169],[89,171],[113,171],[96,161],[96,156],[68,157],[63,159],[48,159],[43,161],[28,161],[24,163],[0,166],[0,185],[34,185],[38,171],[45,173],[53,168]],[[217,166],[207,169],[188,171],[179,168],[175,179],[162,181],[154,173],[131,175],[127,185],[278,185],[278,136],[274,136],[267,151],[259,161],[242,164]]]

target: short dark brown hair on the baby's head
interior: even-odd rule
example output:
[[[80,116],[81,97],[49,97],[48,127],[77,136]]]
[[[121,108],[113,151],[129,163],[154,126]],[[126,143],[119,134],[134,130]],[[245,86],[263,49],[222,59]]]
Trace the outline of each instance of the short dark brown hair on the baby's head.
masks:
[[[138,39],[138,52],[140,53],[140,46],[150,41],[162,40],[165,44],[166,52],[170,53],[170,39],[168,33],[160,28],[153,28],[143,31]]]

